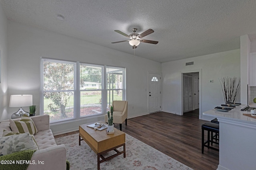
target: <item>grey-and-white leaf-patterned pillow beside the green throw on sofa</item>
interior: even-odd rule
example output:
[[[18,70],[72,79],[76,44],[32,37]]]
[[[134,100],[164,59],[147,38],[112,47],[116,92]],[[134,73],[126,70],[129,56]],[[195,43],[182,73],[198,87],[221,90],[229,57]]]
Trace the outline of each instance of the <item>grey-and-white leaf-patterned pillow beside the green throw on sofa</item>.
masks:
[[[0,137],[0,156],[22,151],[38,150],[38,147],[29,133]]]

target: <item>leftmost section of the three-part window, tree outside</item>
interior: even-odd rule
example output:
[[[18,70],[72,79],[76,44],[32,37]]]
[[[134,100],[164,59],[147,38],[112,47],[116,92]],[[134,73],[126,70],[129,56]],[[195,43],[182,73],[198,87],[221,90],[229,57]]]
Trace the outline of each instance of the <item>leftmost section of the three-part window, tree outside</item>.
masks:
[[[43,110],[51,121],[74,118],[74,79],[76,63],[44,59]]]

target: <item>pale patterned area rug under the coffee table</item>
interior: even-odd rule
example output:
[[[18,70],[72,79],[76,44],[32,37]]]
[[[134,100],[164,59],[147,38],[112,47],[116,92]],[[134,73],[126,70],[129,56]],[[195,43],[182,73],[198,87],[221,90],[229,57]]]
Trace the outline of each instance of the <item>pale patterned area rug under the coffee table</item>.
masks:
[[[84,142],[78,145],[78,134],[55,139],[67,149],[70,170],[97,170],[97,154]],[[118,148],[122,151],[123,147]],[[110,151],[104,157],[115,154]],[[192,170],[179,161],[126,134],[126,158],[118,155],[100,164],[101,170]]]

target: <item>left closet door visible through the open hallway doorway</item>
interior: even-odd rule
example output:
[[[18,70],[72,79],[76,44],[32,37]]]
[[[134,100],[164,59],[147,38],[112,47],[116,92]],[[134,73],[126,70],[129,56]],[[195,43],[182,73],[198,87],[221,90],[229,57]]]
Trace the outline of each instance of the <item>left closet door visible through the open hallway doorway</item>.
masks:
[[[183,113],[192,110],[192,75],[183,74]]]

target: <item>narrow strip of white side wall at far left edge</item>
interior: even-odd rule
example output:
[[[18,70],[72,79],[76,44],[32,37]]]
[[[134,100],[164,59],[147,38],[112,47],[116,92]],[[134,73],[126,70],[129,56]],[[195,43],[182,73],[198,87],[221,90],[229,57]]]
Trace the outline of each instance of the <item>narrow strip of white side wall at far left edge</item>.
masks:
[[[0,120],[7,117],[8,109],[7,26],[7,18],[0,3]]]

